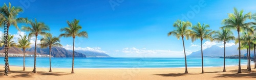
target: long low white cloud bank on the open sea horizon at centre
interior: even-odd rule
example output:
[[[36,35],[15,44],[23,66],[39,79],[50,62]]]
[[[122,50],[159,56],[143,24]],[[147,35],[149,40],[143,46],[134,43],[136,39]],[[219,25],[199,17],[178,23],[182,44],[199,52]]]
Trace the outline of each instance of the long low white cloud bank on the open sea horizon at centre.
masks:
[[[135,47],[132,48],[123,48],[122,52],[126,55],[132,57],[184,57],[184,51],[173,51],[173,50],[149,50],[146,48],[137,49]],[[192,51],[186,50],[186,55],[191,54]]]

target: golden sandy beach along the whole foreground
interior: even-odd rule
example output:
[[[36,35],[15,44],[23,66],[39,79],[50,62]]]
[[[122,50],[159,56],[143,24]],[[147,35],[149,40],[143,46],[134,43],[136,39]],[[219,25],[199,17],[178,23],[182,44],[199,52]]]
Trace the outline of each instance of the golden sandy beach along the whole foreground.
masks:
[[[188,68],[189,74],[184,74],[184,68],[126,68],[126,69],[75,69],[71,68],[37,68],[37,73],[32,73],[32,67],[11,67],[8,76],[0,69],[1,80],[9,79],[256,79],[256,69],[251,65],[252,71],[247,71],[247,66],[242,66],[242,73],[237,74],[238,66],[226,67],[227,72],[222,72],[223,67],[206,67],[203,74],[201,68]]]

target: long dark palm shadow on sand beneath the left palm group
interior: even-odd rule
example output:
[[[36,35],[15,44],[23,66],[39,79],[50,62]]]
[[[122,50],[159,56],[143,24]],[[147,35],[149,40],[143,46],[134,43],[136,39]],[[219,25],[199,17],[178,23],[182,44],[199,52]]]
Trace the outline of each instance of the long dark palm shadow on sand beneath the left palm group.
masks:
[[[61,75],[68,75],[71,73],[64,73],[64,72],[41,72],[41,71],[37,71],[37,73],[33,73],[32,71],[10,71],[9,75],[12,73],[17,73],[17,75],[13,75],[11,77],[15,78],[15,77],[31,77],[32,75],[54,75],[54,76],[61,76]],[[1,76],[6,76],[4,75],[3,71],[0,71],[0,77]]]

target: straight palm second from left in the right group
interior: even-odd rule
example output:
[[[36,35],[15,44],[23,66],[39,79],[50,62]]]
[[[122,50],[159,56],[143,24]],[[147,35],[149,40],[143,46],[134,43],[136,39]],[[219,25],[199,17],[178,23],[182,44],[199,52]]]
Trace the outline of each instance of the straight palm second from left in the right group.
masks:
[[[203,39],[212,40],[211,35],[214,34],[214,31],[207,30],[210,26],[208,24],[201,25],[200,22],[197,25],[192,27],[193,32],[191,33],[192,42],[196,39],[201,40],[201,56],[202,56],[202,73],[204,73],[204,63],[203,63]]]

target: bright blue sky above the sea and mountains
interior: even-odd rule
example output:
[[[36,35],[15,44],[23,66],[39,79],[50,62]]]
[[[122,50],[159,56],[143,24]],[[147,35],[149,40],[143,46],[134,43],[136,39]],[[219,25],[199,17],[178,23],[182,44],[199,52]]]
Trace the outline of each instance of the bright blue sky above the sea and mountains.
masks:
[[[210,29],[219,30],[223,26],[221,21],[227,18],[228,13],[233,13],[234,7],[244,9],[245,13],[256,13],[255,1],[252,0],[0,1],[2,5],[9,2],[24,9],[19,17],[36,18],[49,25],[53,36],[61,34],[59,30],[67,26],[67,20],[79,19],[82,31],[87,31],[89,38],[76,38],[75,49],[105,52],[112,57],[183,57],[182,41],[173,36],[167,37],[167,33],[174,30],[172,25],[177,19],[189,20],[193,25],[206,23]],[[19,28],[21,26],[19,24]],[[11,27],[10,33],[29,34],[24,31],[19,33],[14,27]],[[237,36],[237,32],[234,35]],[[72,38],[60,40],[64,48],[72,49]],[[228,45],[233,45],[232,42]],[[222,46],[222,43],[208,40],[203,43],[204,48]],[[185,40],[185,47],[189,55],[200,50],[200,41]]]

